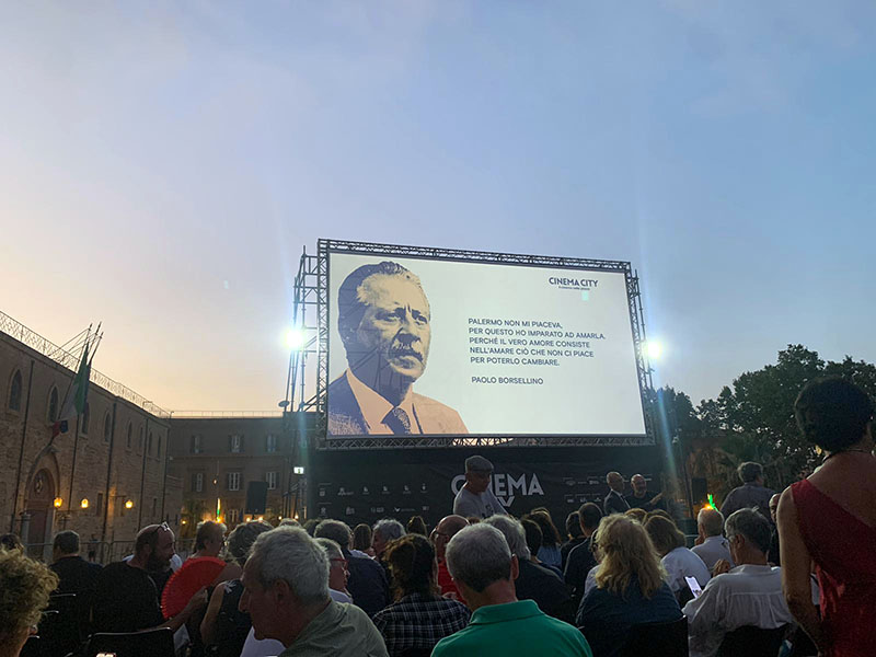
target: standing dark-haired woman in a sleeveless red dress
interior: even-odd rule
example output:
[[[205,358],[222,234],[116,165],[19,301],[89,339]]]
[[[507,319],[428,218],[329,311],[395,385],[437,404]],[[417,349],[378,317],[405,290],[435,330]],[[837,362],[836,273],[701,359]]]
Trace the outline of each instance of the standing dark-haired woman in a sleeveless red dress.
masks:
[[[794,618],[826,657],[876,655],[874,404],[840,378],[808,383],[794,404],[804,437],[825,452],[809,477],[782,493],[782,586]],[[820,616],[812,604],[815,568]]]

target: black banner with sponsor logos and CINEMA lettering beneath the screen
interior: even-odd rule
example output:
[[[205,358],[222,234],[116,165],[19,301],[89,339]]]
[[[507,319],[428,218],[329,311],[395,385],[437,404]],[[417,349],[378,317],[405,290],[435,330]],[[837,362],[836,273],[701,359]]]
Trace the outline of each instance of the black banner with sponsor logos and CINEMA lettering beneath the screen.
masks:
[[[608,493],[606,473],[609,470],[620,471],[626,480],[642,473],[650,489],[659,489],[654,450],[634,448],[632,451],[641,453],[634,453],[636,458],[630,459],[627,454],[602,450],[586,454],[589,457],[586,459],[578,456],[577,460],[546,462],[528,459],[527,454],[506,460],[502,459],[505,454],[481,453],[493,461],[493,493],[511,515],[519,517],[535,507],[546,507],[557,529],[564,533],[563,522],[567,514],[586,502],[601,506]],[[326,459],[322,466],[312,471],[310,515],[337,518],[350,525],[372,523],[384,517],[404,522],[417,515],[431,527],[452,512],[453,498],[465,483],[464,458],[443,463],[417,459],[420,462],[411,463],[391,462],[373,453],[360,452],[359,459],[337,459],[334,462]]]

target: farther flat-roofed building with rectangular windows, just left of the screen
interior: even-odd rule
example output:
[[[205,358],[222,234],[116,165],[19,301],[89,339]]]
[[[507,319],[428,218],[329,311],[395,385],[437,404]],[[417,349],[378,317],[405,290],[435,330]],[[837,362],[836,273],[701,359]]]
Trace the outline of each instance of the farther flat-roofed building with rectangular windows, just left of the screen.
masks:
[[[231,415],[231,416],[229,416]],[[170,426],[171,472],[183,482],[183,535],[193,526],[217,517],[229,529],[247,515],[251,482],[267,484],[266,510],[273,525],[295,516],[297,456],[283,417],[206,414],[176,417]]]

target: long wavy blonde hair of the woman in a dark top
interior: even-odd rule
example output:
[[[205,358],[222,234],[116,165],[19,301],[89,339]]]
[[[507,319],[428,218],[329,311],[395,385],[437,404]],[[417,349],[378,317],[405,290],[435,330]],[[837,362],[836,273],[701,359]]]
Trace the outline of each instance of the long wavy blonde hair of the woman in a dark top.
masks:
[[[598,588],[623,596],[635,579],[642,596],[650,598],[662,586],[666,570],[637,520],[619,514],[607,516],[600,520],[596,537],[602,556],[596,572]]]

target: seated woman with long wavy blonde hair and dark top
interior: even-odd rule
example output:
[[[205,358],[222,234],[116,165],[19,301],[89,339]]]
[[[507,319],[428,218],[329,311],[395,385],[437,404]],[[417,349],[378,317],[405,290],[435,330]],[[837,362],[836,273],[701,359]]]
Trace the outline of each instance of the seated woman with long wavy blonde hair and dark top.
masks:
[[[621,654],[630,627],[675,621],[681,610],[641,523],[620,514],[602,518],[597,549],[601,562],[596,587],[581,600],[576,624],[595,657],[614,657]]]

